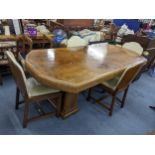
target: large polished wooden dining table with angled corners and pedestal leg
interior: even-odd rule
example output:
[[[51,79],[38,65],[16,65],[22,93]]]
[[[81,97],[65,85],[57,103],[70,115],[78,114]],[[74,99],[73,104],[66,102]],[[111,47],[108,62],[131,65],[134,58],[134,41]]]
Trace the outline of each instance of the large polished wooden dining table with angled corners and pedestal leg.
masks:
[[[64,92],[62,118],[78,111],[80,92],[114,78],[130,65],[146,63],[143,56],[108,43],[87,47],[32,50],[26,70],[41,84]]]

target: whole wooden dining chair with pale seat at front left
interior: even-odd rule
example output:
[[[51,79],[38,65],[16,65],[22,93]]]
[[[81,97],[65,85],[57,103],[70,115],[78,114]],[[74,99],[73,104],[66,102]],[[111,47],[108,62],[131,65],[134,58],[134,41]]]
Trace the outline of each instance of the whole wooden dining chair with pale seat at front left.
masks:
[[[60,90],[49,88],[38,83],[34,78],[26,78],[22,67],[16,61],[14,55],[10,52],[6,52],[9,66],[11,68],[13,77],[16,82],[16,109],[19,107],[19,96],[20,93],[24,98],[24,118],[23,118],[23,127],[25,128],[29,121],[36,120],[38,118],[51,116],[51,115],[60,115],[61,110],[61,92]],[[34,116],[29,118],[29,106],[31,102],[39,102],[42,100],[52,100],[50,102],[56,107],[54,112],[44,112],[41,111],[41,115]],[[54,102],[55,101],[55,102]]]

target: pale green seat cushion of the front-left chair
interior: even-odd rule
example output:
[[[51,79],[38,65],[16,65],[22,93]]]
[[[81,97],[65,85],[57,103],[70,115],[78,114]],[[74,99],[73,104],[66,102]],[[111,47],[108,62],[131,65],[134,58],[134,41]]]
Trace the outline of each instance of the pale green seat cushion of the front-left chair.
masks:
[[[59,90],[57,90],[57,89],[52,89],[50,87],[46,87],[44,85],[41,85],[34,78],[28,78],[26,81],[26,86],[28,89],[28,94],[31,97],[59,92]]]

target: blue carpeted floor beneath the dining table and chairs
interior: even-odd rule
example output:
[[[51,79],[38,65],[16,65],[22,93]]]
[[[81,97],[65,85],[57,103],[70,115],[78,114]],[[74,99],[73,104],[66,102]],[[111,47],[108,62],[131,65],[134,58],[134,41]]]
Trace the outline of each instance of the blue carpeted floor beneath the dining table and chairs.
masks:
[[[15,83],[11,76],[5,76],[0,86],[0,134],[146,134],[155,129],[155,111],[149,108],[155,105],[154,92],[155,78],[145,73],[131,85],[125,107],[121,109],[116,105],[112,117],[100,105],[87,102],[85,91],[79,96],[76,114],[65,120],[57,117],[38,120],[23,129],[23,105],[15,110]],[[101,91],[96,88],[94,95],[101,95]]]

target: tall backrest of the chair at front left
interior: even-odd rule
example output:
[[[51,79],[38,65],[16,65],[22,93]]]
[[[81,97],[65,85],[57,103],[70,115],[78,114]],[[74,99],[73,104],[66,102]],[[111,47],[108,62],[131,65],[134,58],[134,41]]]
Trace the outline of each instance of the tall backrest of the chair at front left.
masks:
[[[6,51],[6,55],[7,55],[8,61],[9,61],[9,66],[11,68],[11,72],[12,72],[15,82],[17,84],[17,87],[19,88],[23,97],[28,97],[28,90],[26,87],[26,76],[25,76],[25,73],[24,73],[22,67],[19,65],[19,63],[15,59],[12,52]]]

